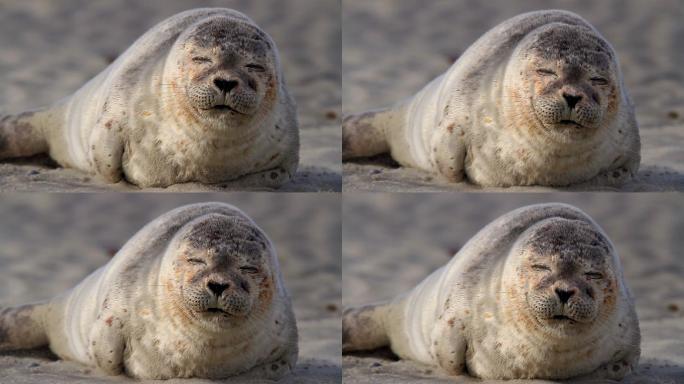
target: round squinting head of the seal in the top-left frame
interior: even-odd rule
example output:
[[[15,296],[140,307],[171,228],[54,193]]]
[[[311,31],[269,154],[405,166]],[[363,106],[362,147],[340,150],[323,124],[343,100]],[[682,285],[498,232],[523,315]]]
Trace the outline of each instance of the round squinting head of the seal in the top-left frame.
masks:
[[[270,38],[256,26],[213,16],[188,28],[176,46],[168,78],[189,114],[240,126],[273,108],[277,60]]]

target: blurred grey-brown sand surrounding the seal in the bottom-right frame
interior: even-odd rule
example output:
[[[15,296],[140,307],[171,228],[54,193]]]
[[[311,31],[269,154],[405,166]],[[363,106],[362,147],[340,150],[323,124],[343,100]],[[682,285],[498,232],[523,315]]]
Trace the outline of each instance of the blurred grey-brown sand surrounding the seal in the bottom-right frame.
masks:
[[[593,217],[622,259],[642,332],[638,371],[624,382],[683,383],[684,199],[679,193],[345,194],[342,303],[359,305],[408,291],[490,221],[521,206],[554,201]],[[388,351],[345,355],[343,371],[350,384],[485,382],[447,378],[435,368],[396,361]]]

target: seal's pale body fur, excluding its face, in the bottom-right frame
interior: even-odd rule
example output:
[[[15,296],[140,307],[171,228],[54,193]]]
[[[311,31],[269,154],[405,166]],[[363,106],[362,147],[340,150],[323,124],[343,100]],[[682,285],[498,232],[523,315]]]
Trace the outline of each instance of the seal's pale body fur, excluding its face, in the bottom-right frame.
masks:
[[[599,310],[603,305],[608,309],[591,328],[555,338],[537,323],[520,320],[527,309],[512,301],[505,287],[523,278],[512,267],[516,245],[535,236],[530,228],[553,229],[557,223],[592,228],[606,239],[605,262],[616,293],[614,307],[599,304]],[[619,380],[636,368],[639,343],[633,298],[612,244],[586,214],[557,203],[520,208],[496,219],[408,293],[349,308],[343,318],[345,352],[390,346],[401,358],[439,366],[448,374],[488,379]]]

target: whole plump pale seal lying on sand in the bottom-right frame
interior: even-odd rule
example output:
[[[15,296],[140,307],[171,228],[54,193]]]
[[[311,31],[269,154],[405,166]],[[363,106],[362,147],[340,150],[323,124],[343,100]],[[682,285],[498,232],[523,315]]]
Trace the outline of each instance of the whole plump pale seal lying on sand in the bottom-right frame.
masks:
[[[342,332],[345,352],[389,345],[483,379],[621,379],[640,354],[613,245],[564,204],[496,219],[410,292],[347,309]]]

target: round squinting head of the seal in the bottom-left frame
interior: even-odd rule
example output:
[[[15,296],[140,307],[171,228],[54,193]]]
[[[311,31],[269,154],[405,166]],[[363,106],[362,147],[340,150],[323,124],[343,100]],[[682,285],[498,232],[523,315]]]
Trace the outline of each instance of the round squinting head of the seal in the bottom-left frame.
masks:
[[[264,233],[241,217],[196,219],[167,250],[170,265],[160,276],[165,297],[214,330],[263,316],[275,294],[270,249]]]

